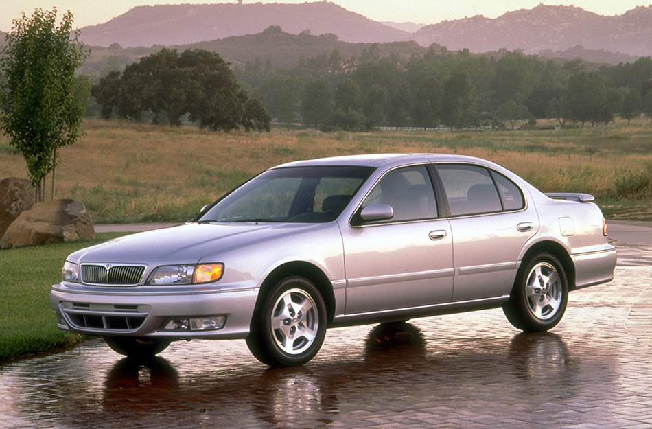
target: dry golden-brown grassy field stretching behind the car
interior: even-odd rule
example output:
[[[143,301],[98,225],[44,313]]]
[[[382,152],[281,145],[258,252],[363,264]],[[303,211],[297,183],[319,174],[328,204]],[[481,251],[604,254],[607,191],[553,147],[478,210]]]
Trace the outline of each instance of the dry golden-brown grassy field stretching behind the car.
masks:
[[[266,167],[374,152],[441,152],[490,159],[544,192],[588,192],[608,218],[652,220],[652,125],[483,132],[347,132],[267,135],[85,121],[63,148],[56,198],[81,200],[95,223],[187,220]],[[0,137],[0,178],[27,177]],[[50,183],[47,183],[50,186]],[[47,191],[49,196],[49,190]]]

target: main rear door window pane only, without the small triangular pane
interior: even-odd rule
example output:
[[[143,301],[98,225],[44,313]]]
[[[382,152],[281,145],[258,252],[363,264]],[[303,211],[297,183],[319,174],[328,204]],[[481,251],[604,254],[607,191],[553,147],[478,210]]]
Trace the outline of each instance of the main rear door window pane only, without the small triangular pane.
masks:
[[[437,165],[452,216],[502,211],[489,170],[476,165]]]

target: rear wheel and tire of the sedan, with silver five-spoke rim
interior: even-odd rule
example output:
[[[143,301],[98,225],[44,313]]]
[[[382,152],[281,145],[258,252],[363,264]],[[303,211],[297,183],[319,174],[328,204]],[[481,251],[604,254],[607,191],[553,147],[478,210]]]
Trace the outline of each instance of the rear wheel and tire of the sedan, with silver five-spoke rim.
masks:
[[[524,332],[544,332],[555,327],[566,311],[568,281],[559,259],[539,253],[521,266],[507,303],[507,320]]]

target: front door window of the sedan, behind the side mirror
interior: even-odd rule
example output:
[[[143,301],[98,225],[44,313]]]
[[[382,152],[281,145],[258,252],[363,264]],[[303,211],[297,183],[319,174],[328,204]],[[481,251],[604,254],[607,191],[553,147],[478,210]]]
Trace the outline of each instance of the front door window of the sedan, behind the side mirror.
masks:
[[[391,205],[394,209],[394,222],[437,217],[432,182],[423,165],[400,168],[385,174],[364,199],[362,207],[370,204]]]

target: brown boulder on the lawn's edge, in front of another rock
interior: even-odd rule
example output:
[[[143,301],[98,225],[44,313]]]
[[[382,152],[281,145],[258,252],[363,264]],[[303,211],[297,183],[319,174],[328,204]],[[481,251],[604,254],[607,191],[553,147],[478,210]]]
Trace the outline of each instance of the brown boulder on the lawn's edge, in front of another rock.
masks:
[[[35,246],[94,238],[95,230],[86,207],[75,200],[37,202],[23,211],[0,240],[1,248]]]

